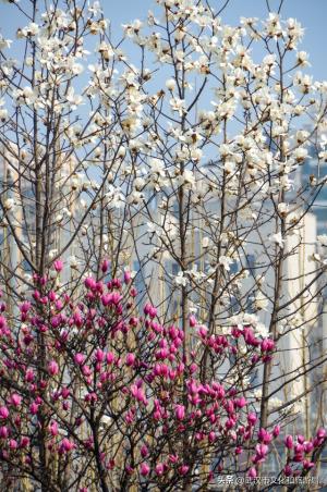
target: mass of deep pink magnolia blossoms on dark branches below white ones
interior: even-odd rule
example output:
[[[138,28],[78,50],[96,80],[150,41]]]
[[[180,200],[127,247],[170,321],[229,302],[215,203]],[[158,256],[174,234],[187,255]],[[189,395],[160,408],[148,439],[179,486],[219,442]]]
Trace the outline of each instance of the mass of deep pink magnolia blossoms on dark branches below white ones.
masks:
[[[108,483],[112,476],[160,487],[192,481],[203,464],[210,481],[229,472],[231,458],[238,473],[257,476],[281,429],[259,428],[251,389],[231,382],[228,371],[258,368],[272,357],[271,339],[250,325],[209,333],[194,315],[187,333],[161,324],[152,304],[140,312],[130,272],[108,282],[87,276],[78,295],[60,294],[47,278],[35,275],[34,283],[16,319],[1,305],[2,460],[32,473],[43,440],[62,466],[88,459]],[[204,354],[216,374],[203,376]],[[324,441],[323,429],[311,441],[288,435],[281,472],[310,470]]]

